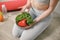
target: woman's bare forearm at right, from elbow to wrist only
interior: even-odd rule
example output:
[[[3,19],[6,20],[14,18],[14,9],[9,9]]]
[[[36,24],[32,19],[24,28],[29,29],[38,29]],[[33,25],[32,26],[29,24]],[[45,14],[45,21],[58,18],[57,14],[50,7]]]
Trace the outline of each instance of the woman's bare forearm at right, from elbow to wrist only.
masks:
[[[47,16],[49,16],[52,11],[53,10],[49,8],[46,11],[44,11],[40,16],[36,17],[34,20],[36,22],[39,22],[39,21],[43,20],[44,18],[46,18]]]

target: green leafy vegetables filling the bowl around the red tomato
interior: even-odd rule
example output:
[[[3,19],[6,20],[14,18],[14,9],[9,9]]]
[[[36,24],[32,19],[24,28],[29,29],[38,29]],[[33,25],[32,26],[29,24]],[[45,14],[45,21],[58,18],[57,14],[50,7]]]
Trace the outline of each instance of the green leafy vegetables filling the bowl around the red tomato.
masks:
[[[22,21],[23,19],[26,19],[25,23],[27,23],[27,25],[30,25],[31,23],[33,23],[33,18],[28,12],[22,12],[22,14],[19,14],[16,17],[16,23],[18,24],[19,21]]]

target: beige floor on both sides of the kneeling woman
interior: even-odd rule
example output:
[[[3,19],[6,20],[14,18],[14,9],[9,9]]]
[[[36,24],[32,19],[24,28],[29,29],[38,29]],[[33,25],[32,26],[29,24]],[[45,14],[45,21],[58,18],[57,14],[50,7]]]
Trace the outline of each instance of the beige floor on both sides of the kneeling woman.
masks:
[[[7,0],[0,0],[0,2]],[[18,40],[12,36],[12,28],[19,11],[7,12],[9,16],[4,22],[0,22],[0,40]],[[53,20],[49,27],[39,35],[36,40],[60,40],[60,1],[53,11]]]

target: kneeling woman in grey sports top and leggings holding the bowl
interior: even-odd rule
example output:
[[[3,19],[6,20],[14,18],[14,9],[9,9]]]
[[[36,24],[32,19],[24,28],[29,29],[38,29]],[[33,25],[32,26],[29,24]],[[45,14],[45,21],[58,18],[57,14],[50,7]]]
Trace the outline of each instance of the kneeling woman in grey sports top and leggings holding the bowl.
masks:
[[[21,29],[14,24],[14,28],[12,30],[13,36],[20,36],[20,40],[34,40],[50,24],[52,11],[56,7],[57,3],[58,0],[28,0],[22,11],[28,9],[34,19],[34,23],[27,26],[27,30]]]

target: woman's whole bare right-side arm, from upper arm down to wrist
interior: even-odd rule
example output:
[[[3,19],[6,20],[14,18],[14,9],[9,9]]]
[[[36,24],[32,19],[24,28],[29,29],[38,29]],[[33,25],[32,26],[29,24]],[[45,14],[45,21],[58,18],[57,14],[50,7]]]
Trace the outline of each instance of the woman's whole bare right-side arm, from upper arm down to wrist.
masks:
[[[39,17],[37,17],[35,21],[39,22],[44,18],[46,18],[47,16],[49,16],[52,13],[52,11],[55,9],[57,3],[58,0],[50,0],[49,8],[46,11],[44,11]]]

